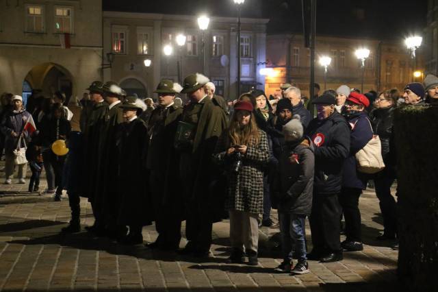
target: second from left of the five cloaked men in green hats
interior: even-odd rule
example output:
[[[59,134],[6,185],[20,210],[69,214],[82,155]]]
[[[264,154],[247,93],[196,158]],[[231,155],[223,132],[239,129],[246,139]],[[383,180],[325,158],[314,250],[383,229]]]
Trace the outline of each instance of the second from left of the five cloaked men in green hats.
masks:
[[[96,183],[94,184],[94,205],[101,216],[105,233],[116,239],[126,234],[126,228],[117,228],[117,192],[118,192],[118,149],[116,133],[118,125],[123,123],[123,110],[120,98],[123,89],[116,82],[103,85],[103,96],[108,104],[108,111],[101,125],[99,136],[99,157]],[[125,232],[125,234],[123,234]]]

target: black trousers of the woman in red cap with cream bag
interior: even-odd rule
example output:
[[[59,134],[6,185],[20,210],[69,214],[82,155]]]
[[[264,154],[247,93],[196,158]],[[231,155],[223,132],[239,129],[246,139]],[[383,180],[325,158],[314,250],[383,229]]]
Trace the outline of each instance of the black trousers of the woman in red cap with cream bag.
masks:
[[[360,188],[342,188],[339,202],[345,219],[346,241],[362,242],[361,212],[359,211]]]

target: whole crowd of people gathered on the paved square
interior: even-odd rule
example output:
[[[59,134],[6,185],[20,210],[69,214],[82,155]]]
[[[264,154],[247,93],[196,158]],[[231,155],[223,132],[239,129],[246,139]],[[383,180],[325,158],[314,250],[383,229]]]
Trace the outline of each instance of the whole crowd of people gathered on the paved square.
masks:
[[[359,197],[370,180],[384,221],[377,239],[396,243],[394,110],[437,104],[438,78],[428,75],[402,93],[362,94],[344,84],[311,99],[283,84],[281,97],[253,89],[228,104],[200,73],[182,86],[161,80],[156,104],[127,96],[115,82],[92,82],[88,90],[68,104],[60,92],[34,96],[26,108],[19,95],[1,97],[5,184],[16,165],[25,184],[29,163],[29,191],[38,191],[45,169],[45,192],[55,201],[68,195],[71,220],[62,232],[81,230],[79,202],[87,197],[95,221],[86,230],[95,236],[136,245],[142,227],[155,222],[158,236],[147,247],[196,257],[209,256],[212,224],[229,217],[229,260],[247,256],[248,265],[258,264],[258,228],[274,225],[275,208],[283,257],[277,270],[299,274],[309,272],[308,259],[327,263],[363,250]],[[375,135],[385,167],[370,175],[356,156]],[[188,243],[180,250],[182,221]]]

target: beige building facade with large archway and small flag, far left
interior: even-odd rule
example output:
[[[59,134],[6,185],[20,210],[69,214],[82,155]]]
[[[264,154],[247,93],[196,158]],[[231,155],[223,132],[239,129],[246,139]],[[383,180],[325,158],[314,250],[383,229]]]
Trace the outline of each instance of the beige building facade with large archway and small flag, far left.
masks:
[[[101,0],[1,1],[0,91],[80,97],[101,80],[101,27]]]

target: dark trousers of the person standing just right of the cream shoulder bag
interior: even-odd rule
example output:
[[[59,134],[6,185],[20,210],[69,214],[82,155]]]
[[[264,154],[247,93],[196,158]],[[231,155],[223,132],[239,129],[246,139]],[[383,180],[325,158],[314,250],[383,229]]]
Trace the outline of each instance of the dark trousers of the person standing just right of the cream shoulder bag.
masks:
[[[374,178],[374,188],[378,197],[378,204],[381,207],[383,217],[384,234],[395,236],[397,233],[397,206],[396,200],[391,195],[391,185],[394,178],[379,176]]]

